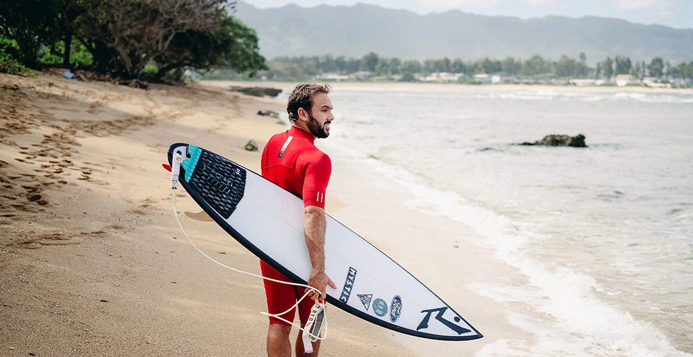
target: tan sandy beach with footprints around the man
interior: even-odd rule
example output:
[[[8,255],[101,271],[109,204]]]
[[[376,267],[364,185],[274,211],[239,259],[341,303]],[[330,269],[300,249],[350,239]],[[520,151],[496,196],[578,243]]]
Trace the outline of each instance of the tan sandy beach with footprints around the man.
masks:
[[[133,89],[0,74],[0,356],[265,354],[262,282],[193,250],[161,168],[171,143],[191,142],[259,171],[260,153],[243,146],[252,139],[262,148],[286,125],[256,112],[286,103],[227,84]],[[531,338],[506,322],[502,306],[464,288],[466,272],[450,275],[445,261],[522,279],[516,271],[461,241],[474,234],[468,228],[406,209],[406,193],[378,186],[377,177],[363,173],[367,183],[354,185],[354,169],[335,167],[328,213],[464,306],[459,312],[486,338],[423,340],[331,308],[321,356],[473,356],[495,340]],[[181,191],[178,210],[198,207]],[[183,224],[216,259],[259,272],[258,259],[216,225]]]

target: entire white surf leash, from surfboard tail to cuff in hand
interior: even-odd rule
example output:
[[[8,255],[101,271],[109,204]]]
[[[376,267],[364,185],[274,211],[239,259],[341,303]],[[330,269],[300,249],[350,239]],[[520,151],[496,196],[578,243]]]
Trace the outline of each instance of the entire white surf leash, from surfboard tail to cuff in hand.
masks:
[[[168,164],[162,164],[161,166],[164,166],[166,170],[170,171],[171,173],[171,180],[170,180],[170,187],[171,187],[171,192],[173,194],[173,214],[175,216],[175,220],[178,223],[178,227],[180,228],[181,232],[183,232],[183,235],[185,238],[188,240],[188,243],[190,243],[195,250],[200,252],[203,256],[207,257],[207,259],[213,261],[214,263],[217,263],[218,265],[221,265],[224,268],[227,268],[229,270],[233,270],[234,272],[239,272],[241,274],[245,275],[250,275],[251,277],[258,277],[261,279],[265,279],[268,281],[274,281],[276,283],[280,284],[287,284],[291,286],[299,286],[302,288],[306,288],[306,293],[297,300],[296,304],[291,306],[287,311],[283,311],[282,313],[278,314],[272,314],[272,313],[265,313],[264,311],[261,311],[261,315],[265,315],[268,317],[274,317],[277,318],[278,320],[281,320],[283,322],[286,322],[288,324],[291,324],[292,326],[296,326],[298,329],[302,331],[302,336],[301,339],[303,340],[304,343],[304,352],[306,354],[312,354],[313,353],[313,343],[317,340],[324,340],[327,338],[327,316],[326,316],[326,308],[327,308],[327,302],[325,300],[320,300],[317,299],[315,300],[315,304],[313,304],[313,308],[310,309],[310,315],[308,317],[308,321],[306,322],[305,326],[301,326],[300,324],[296,324],[293,321],[286,320],[285,318],[281,317],[281,315],[284,315],[288,313],[289,311],[292,311],[293,309],[297,308],[301,301],[308,297],[311,292],[317,293],[318,296],[320,296],[320,290],[317,290],[316,288],[313,288],[313,286],[308,286],[306,284],[298,284],[298,283],[292,283],[288,281],[281,281],[277,279],[271,279],[268,277],[263,277],[262,275],[257,275],[252,272],[246,272],[244,270],[239,270],[236,268],[232,268],[229,265],[226,265],[224,263],[221,263],[220,261],[217,261],[216,259],[212,258],[205,252],[202,252],[200,248],[198,248],[195,243],[191,240],[191,238],[188,236],[188,234],[185,232],[185,229],[183,229],[183,225],[180,222],[180,218],[178,216],[178,209],[176,207],[176,192],[178,191],[178,177],[180,174],[180,164],[183,162],[184,158],[182,155],[175,153],[173,154],[173,165],[169,166]]]

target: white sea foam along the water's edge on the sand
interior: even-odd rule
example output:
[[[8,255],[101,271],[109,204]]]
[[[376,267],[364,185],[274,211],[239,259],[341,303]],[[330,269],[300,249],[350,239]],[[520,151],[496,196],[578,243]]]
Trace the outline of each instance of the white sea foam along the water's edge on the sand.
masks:
[[[534,333],[536,341],[499,340],[477,356],[692,356],[675,349],[651,324],[600,300],[599,286],[590,275],[533,259],[529,247],[543,237],[454,191],[436,189],[405,168],[373,158],[362,162],[412,193],[414,198],[407,201],[411,209],[473,227],[482,239],[466,237],[468,241],[492,247],[496,258],[529,279],[529,286],[493,286],[482,281],[468,285],[497,302],[523,302],[535,309],[532,315],[508,311],[508,320]]]

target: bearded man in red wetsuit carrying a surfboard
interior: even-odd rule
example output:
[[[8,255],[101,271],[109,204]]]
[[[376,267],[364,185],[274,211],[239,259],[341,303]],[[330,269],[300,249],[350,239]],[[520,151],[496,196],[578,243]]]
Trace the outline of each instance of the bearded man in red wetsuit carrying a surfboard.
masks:
[[[286,111],[289,114],[291,128],[286,132],[275,134],[267,142],[262,155],[262,175],[268,180],[282,186],[304,200],[304,234],[313,269],[308,277],[308,286],[319,290],[311,291],[311,299],[324,299],[326,286],[337,288],[325,274],[325,189],[327,188],[332,163],[330,158],[315,147],[315,138],[326,138],[330,134],[332,102],[328,96],[328,85],[297,85],[289,96]],[[281,281],[290,281],[277,270],[260,262],[263,276]],[[306,289],[307,290],[307,289]],[[272,314],[287,311],[298,298],[303,296],[304,289],[274,281],[265,280],[267,311]],[[306,324],[313,301],[304,299],[299,304],[301,326]],[[293,321],[295,311],[281,315]],[[291,325],[282,320],[270,317],[267,331],[267,356],[290,357],[291,342],[289,333]],[[317,356],[319,340],[313,342],[311,356]],[[301,333],[296,341],[296,356],[304,356],[304,345]]]

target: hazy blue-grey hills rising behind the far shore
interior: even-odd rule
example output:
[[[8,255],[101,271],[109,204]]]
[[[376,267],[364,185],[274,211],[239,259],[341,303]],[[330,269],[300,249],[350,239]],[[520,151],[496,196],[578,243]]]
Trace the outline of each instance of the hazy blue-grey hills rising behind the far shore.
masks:
[[[457,10],[418,15],[363,3],[258,9],[243,1],[236,4],[235,15],[257,31],[266,58],[325,54],[360,58],[374,51],[403,60],[527,59],[536,54],[558,60],[561,55],[577,58],[581,52],[590,65],[607,55],[648,63],[654,57],[672,64],[693,60],[693,29],[604,17],[523,20]]]

